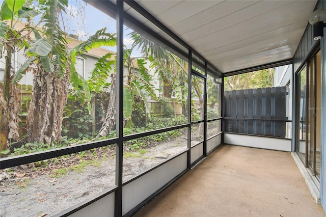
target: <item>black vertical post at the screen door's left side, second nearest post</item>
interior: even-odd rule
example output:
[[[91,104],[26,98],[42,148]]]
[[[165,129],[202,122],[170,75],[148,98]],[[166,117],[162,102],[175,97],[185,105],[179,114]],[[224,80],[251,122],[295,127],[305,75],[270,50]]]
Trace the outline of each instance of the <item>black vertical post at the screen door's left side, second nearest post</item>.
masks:
[[[192,122],[192,50],[188,52],[188,123]],[[187,168],[191,169],[191,137],[192,137],[192,125],[188,125],[188,140],[187,140]]]

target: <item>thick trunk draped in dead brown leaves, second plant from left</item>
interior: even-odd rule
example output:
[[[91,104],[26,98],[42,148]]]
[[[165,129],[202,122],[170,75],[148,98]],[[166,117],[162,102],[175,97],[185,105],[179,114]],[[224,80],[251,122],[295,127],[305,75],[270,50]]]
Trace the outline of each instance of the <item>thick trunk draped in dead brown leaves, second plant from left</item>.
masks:
[[[61,142],[62,117],[67,103],[69,74],[45,72],[41,64],[34,71],[34,87],[28,114],[29,142]]]

